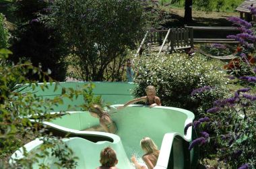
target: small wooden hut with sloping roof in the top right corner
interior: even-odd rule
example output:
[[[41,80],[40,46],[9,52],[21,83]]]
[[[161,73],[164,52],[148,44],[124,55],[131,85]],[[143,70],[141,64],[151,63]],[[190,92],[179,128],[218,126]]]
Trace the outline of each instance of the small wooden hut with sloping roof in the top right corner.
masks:
[[[236,7],[236,11],[240,12],[241,19],[246,21],[256,21],[256,17],[251,15],[248,7],[256,7],[256,0],[245,0],[241,5]]]

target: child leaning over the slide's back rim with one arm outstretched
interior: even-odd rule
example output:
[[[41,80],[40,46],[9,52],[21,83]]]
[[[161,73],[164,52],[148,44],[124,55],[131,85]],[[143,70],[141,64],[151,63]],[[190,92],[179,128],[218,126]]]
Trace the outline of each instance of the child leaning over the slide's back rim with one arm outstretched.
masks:
[[[150,86],[146,87],[145,91],[147,94],[146,96],[128,101],[127,103],[125,103],[125,105],[117,107],[117,109],[123,109],[123,108],[127,107],[128,105],[137,103],[139,101],[144,101],[146,103],[146,105],[149,105],[150,107],[161,105],[161,101],[160,101],[159,97],[156,96],[156,88],[154,86],[150,85]]]

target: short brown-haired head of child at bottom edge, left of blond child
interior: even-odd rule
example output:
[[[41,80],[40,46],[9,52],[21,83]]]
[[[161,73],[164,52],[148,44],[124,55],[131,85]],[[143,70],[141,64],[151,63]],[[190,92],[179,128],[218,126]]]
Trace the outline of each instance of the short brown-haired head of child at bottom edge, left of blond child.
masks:
[[[100,152],[100,164],[102,164],[102,166],[112,167],[117,163],[117,154],[112,148],[107,147]]]

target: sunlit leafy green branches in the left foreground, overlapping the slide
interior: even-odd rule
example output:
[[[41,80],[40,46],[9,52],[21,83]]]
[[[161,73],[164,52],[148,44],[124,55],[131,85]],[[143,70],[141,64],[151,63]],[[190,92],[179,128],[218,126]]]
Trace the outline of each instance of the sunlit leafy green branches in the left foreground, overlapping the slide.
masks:
[[[51,139],[51,135],[46,134],[44,126],[40,125],[42,121],[48,121],[52,118],[59,117],[60,114],[56,113],[52,115],[53,107],[56,105],[62,105],[63,99],[75,99],[78,95],[86,95],[87,87],[83,91],[76,91],[73,89],[63,89],[61,95],[54,97],[53,99],[43,99],[40,96],[35,95],[34,89],[38,84],[34,80],[26,78],[28,72],[36,74],[41,79],[49,79],[53,82],[52,78],[46,72],[42,72],[41,68],[32,66],[31,62],[19,62],[13,64],[7,60],[8,55],[11,54],[8,50],[0,50],[0,154],[1,158],[4,158],[3,154],[9,155],[10,150],[16,150],[20,146],[20,141],[16,137],[22,135],[22,137],[33,136],[42,137],[44,140]],[[53,85],[53,84],[52,84]],[[47,89],[47,84],[44,80],[43,84],[40,84],[40,89]],[[58,83],[55,83],[55,90],[58,88]],[[90,88],[90,87],[89,87]],[[88,89],[90,90],[90,89]],[[82,105],[77,105],[82,107]],[[68,105],[69,109],[72,109]],[[68,110],[68,109],[67,109]],[[67,111],[63,110],[63,111]],[[35,121],[32,123],[28,118],[32,118]],[[61,150],[61,146],[57,142],[61,142],[58,139],[54,143],[45,142],[40,147],[40,150],[44,152],[42,155],[33,156],[32,154],[26,154],[25,158],[18,160],[13,168],[19,168],[20,166],[27,166],[32,168],[32,164],[38,161],[38,158],[44,158],[49,156],[47,151],[51,150],[53,146],[52,156],[59,158],[59,166],[71,168],[75,166],[75,158],[71,150]],[[12,144],[15,143],[15,144]],[[49,146],[50,145],[50,146]],[[52,145],[52,146],[51,146]],[[57,149],[56,149],[57,148]],[[61,151],[61,154],[59,152]],[[67,151],[67,152],[65,152]],[[14,164],[13,164],[14,165]],[[0,162],[1,168],[12,168],[9,164]],[[45,166],[46,167],[46,166]],[[45,168],[44,167],[44,168]]]

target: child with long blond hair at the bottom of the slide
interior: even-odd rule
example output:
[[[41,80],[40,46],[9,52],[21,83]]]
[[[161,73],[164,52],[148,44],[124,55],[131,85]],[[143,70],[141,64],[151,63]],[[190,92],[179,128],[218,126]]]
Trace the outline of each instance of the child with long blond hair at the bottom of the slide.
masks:
[[[141,149],[146,153],[142,156],[142,160],[146,163],[148,169],[153,169],[156,166],[160,153],[158,147],[150,137],[143,137],[143,139],[140,141],[140,146]],[[131,157],[131,161],[133,164],[135,164],[136,169],[146,169],[146,166],[141,166],[139,162],[137,162],[135,156]]]

